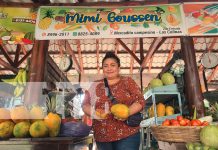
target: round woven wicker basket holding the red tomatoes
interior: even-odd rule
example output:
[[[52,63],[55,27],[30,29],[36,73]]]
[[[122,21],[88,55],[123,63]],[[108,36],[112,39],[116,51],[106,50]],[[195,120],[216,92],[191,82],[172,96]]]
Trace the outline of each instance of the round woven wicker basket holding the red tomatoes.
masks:
[[[158,141],[199,142],[200,126],[151,126],[151,131]]]

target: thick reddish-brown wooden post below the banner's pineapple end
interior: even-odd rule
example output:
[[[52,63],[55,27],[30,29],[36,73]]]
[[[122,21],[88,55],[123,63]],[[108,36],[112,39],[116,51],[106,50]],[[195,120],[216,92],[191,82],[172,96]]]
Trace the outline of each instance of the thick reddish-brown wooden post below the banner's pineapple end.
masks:
[[[42,86],[45,79],[49,41],[35,41],[29,69],[24,102],[27,105],[41,104]]]

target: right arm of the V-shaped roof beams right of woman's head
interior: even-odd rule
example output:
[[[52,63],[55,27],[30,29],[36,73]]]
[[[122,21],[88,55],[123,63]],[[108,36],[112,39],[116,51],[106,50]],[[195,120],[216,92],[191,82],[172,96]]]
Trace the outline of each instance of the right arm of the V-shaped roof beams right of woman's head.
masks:
[[[145,58],[143,59],[141,63],[142,70],[143,68],[146,67],[146,64],[148,63],[150,57],[154,54],[155,51],[158,50],[158,48],[164,43],[165,40],[166,40],[165,37],[154,38],[153,42],[151,43],[151,46],[149,47],[147,55],[145,56]]]

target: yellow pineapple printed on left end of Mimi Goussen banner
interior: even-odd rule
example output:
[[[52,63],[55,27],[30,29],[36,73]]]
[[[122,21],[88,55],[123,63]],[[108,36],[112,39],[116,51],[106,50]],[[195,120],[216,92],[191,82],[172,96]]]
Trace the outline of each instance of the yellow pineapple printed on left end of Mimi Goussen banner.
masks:
[[[54,10],[48,9],[45,11],[45,17],[39,21],[39,28],[42,30],[46,30],[52,23],[52,19],[54,18]]]

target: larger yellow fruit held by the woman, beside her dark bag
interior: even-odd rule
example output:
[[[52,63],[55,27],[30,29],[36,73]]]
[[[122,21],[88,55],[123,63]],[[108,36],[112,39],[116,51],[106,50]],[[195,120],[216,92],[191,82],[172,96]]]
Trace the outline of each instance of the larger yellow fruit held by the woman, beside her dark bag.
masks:
[[[111,113],[115,118],[127,119],[129,117],[129,108],[125,104],[115,104],[111,107]]]

